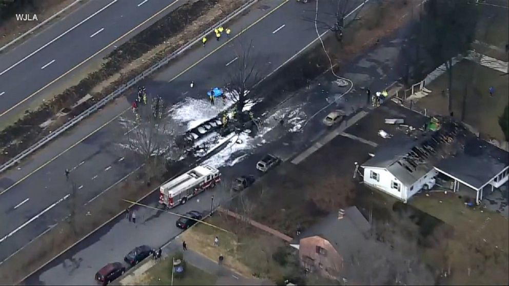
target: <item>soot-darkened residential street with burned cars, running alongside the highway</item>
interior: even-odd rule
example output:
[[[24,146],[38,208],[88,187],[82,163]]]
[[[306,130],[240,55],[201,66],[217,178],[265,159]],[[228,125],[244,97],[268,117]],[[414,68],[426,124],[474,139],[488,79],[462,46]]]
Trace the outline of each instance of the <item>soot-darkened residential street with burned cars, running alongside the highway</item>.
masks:
[[[225,148],[213,155],[212,158],[207,159],[207,163],[221,164],[223,162],[223,167],[220,168],[223,174],[221,185],[212,191],[194,197],[186,205],[178,206],[171,211],[180,214],[190,210],[209,212],[211,195],[214,196],[214,206],[224,203],[233,195],[228,187],[229,182],[235,177],[253,174],[260,178],[261,174],[254,166],[261,156],[272,153],[286,162],[290,162],[297,154],[331,130],[321,123],[322,118],[329,111],[341,109],[349,114],[352,109],[365,108],[366,97],[364,90],[361,90],[360,87],[381,90],[394,82],[398,77],[394,63],[400,43],[398,35],[395,38],[384,40],[375,49],[367,51],[345,66],[342,76],[354,81],[356,88],[343,97],[341,94],[345,89],[337,87],[333,83],[335,78],[331,74],[327,74],[320,79],[320,85],[309,91],[300,92],[286,101],[276,111],[277,116],[286,115],[287,123],[283,127],[279,126],[277,120],[271,122],[271,116],[269,116],[265,122],[271,130],[265,133],[263,138],[253,142],[252,148],[233,153]],[[300,122],[301,125],[312,118],[304,128],[295,132],[295,124],[298,124],[298,120],[288,118],[287,116],[291,116],[290,114],[293,114],[291,117],[293,119],[303,119]],[[346,131],[348,132],[348,129]],[[257,145],[261,141],[267,143]],[[333,139],[330,144],[337,144],[337,148],[341,148],[341,144],[344,142],[361,144],[353,139],[343,137]],[[224,151],[228,154],[228,158],[221,154]],[[243,160],[238,161],[237,158],[241,157]],[[154,192],[141,203],[155,207],[158,198],[158,192]],[[137,207],[135,211],[137,214],[136,224],[128,222],[124,216],[112,220],[101,230],[93,233],[36,272],[25,282],[27,284],[93,284],[95,272],[104,264],[113,261],[122,262],[126,253],[141,244],[148,244],[154,248],[160,247],[181,233],[180,229],[174,227],[177,220],[175,215],[144,207]],[[218,233],[218,235],[221,234]],[[192,249],[192,247],[188,245],[188,248]]]

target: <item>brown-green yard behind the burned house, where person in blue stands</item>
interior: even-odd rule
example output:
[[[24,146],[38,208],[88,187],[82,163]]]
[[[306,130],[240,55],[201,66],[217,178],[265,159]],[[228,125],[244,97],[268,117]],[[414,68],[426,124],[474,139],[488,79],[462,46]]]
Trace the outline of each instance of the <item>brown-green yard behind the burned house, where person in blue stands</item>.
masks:
[[[507,75],[464,59],[453,67],[454,117],[479,130],[484,138],[504,141],[505,136],[498,124],[499,117],[509,104]],[[491,97],[488,89],[494,87]],[[441,115],[449,115],[447,106],[447,74],[443,73],[427,87],[432,93],[417,101],[417,106]],[[465,96],[466,92],[466,96]],[[463,99],[466,98],[464,114]]]

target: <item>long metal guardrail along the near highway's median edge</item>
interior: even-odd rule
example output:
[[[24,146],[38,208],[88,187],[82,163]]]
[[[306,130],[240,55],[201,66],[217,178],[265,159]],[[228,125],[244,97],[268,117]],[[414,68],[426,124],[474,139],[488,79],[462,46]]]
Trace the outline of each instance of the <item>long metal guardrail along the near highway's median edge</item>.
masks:
[[[258,2],[258,0],[247,0],[246,3],[244,3],[241,7],[237,8],[235,11],[233,11],[232,13],[227,15],[226,17],[222,18],[216,24],[212,25],[212,27],[217,27],[217,26],[220,26],[220,25],[224,25],[225,23],[230,21],[232,18],[236,17],[241,12],[243,12],[245,9],[247,9],[248,7],[250,7],[251,5],[253,5],[254,3],[257,3],[257,2]],[[189,48],[191,48],[195,44],[199,43],[201,41],[201,39],[204,36],[206,36],[207,34],[209,34],[209,33],[210,33],[210,30],[201,33],[199,36],[194,38],[194,40],[192,40],[192,42],[190,42],[189,44],[180,47],[179,49],[177,49],[176,51],[174,51],[170,55],[168,55],[165,58],[161,59],[159,61],[159,63],[156,63],[156,64],[152,65],[151,67],[149,67],[148,69],[146,69],[145,71],[140,73],[139,75],[135,76],[133,79],[127,81],[127,83],[124,84],[122,87],[116,89],[115,91],[110,93],[108,96],[106,96],[103,99],[97,101],[96,104],[94,104],[93,106],[91,106],[90,108],[88,108],[87,110],[82,112],[81,114],[76,115],[71,120],[67,121],[66,124],[64,124],[63,126],[59,127],[55,131],[53,131],[51,134],[48,134],[46,137],[42,138],[41,140],[37,141],[34,145],[32,145],[29,148],[25,149],[23,152],[19,153],[14,158],[12,158],[9,161],[7,161],[4,165],[0,166],[0,173],[4,172],[5,170],[7,170],[10,167],[14,166],[15,164],[19,163],[19,161],[24,159],[26,156],[30,155],[31,153],[33,153],[37,149],[41,148],[42,146],[47,144],[49,141],[51,141],[54,138],[56,138],[58,135],[64,133],[69,128],[73,127],[74,125],[79,123],[81,120],[83,120],[87,116],[89,116],[90,114],[92,114],[92,113],[96,112],[97,110],[103,108],[111,100],[113,100],[115,97],[119,96],[120,94],[122,94],[124,91],[128,90],[129,88],[131,88],[135,84],[137,84],[140,80],[142,80],[145,77],[149,76],[154,71],[156,71],[159,68],[163,67],[164,65],[168,64],[168,62],[170,62],[170,60],[174,59],[175,57],[179,56],[184,51],[188,50]]]

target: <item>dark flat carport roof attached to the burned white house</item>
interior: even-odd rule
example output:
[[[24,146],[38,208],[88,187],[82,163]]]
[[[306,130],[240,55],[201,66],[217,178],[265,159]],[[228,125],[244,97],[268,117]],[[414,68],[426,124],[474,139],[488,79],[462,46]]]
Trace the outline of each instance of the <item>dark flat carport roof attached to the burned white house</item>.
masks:
[[[473,189],[481,189],[509,166],[509,153],[475,136],[468,138],[459,151],[435,167]]]

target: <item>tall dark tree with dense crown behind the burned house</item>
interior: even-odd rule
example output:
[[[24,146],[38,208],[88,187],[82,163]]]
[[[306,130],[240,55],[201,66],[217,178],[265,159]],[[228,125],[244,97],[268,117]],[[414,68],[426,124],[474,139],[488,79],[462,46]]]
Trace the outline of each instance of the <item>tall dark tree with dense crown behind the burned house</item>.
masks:
[[[448,109],[453,111],[453,58],[474,40],[477,9],[468,1],[428,0],[421,15],[420,43],[433,62],[445,65]]]

